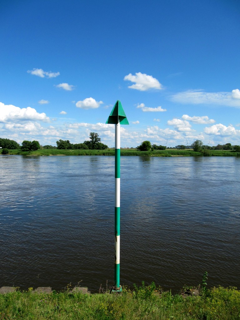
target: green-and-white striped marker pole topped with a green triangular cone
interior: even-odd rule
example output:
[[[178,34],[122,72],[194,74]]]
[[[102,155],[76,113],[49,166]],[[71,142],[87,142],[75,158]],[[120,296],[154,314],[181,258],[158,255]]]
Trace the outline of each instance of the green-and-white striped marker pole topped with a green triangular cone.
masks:
[[[120,124],[129,124],[120,100],[117,100],[106,124],[115,124],[115,272],[112,292],[121,292],[120,285]]]

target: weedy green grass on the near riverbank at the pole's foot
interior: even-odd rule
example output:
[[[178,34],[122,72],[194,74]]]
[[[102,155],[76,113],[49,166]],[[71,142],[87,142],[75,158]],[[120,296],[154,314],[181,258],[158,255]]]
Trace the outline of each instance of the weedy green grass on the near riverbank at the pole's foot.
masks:
[[[12,292],[0,295],[0,319],[240,319],[240,291],[212,288],[195,296],[162,292],[154,283],[121,294]],[[201,293],[201,292],[200,292]]]

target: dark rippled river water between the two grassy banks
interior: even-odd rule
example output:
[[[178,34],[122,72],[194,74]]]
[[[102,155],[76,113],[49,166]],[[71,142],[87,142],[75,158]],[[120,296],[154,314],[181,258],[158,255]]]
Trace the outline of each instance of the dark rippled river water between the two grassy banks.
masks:
[[[114,157],[0,157],[0,286],[114,279]],[[240,287],[240,158],[121,157],[123,285]]]

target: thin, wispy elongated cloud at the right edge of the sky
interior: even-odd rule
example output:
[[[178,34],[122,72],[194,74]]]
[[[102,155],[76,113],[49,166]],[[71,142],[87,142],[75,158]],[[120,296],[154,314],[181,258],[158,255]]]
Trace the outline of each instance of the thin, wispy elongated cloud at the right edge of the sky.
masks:
[[[204,92],[203,90],[188,90],[178,92],[170,98],[182,104],[212,104],[240,108],[240,92]]]

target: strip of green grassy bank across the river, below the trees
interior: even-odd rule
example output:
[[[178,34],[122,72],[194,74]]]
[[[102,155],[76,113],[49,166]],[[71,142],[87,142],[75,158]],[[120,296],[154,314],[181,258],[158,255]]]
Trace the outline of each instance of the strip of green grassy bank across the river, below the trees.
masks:
[[[39,149],[36,151],[21,151],[9,150],[10,155],[25,155],[25,156],[114,156],[115,149],[106,150],[65,150],[65,149]],[[139,151],[135,149],[121,149],[121,156],[203,156],[201,152],[192,150],[154,150],[154,151]],[[232,152],[228,150],[208,150],[205,156],[240,156],[240,152]]]

